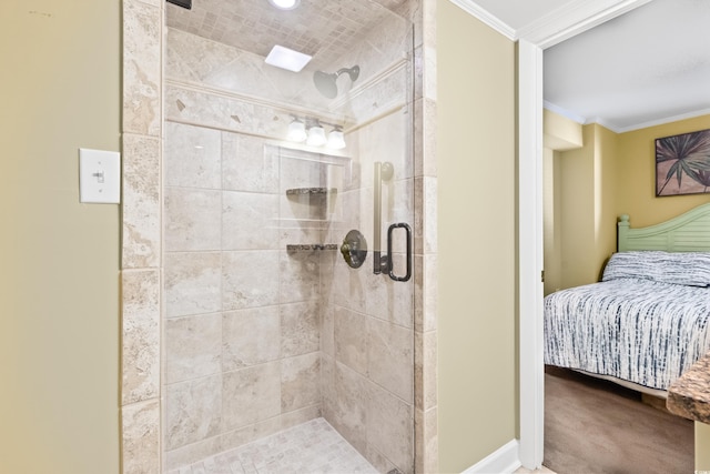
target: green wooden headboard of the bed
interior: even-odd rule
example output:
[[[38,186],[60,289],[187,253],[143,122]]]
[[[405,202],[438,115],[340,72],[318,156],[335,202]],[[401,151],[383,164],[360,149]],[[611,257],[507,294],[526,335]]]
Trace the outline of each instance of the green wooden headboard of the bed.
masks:
[[[619,252],[665,250],[667,252],[710,251],[710,203],[648,228],[631,229],[629,216],[619,221]]]

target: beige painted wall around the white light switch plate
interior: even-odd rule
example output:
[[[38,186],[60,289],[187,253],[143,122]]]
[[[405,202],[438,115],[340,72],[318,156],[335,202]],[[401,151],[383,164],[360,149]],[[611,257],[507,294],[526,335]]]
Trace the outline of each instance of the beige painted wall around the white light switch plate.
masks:
[[[0,3],[0,472],[119,472],[119,206],[78,149],[119,150],[120,3]]]

